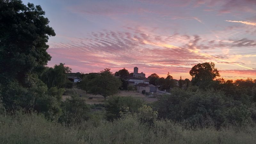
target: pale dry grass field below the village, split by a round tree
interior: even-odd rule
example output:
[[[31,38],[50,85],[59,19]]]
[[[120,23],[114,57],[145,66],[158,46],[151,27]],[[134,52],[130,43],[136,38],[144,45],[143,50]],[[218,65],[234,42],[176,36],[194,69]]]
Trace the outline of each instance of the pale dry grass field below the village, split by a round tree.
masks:
[[[85,91],[83,91],[81,89],[77,89],[76,86],[74,86],[74,88],[72,88],[72,89],[66,89],[66,92],[62,96],[62,100],[70,98],[70,96],[73,94],[79,95],[82,98],[86,99],[87,104],[102,104],[105,102],[104,97],[102,95],[92,95],[92,94],[86,93]],[[129,91],[128,92],[128,91],[120,90],[120,91],[118,91],[118,93],[115,94],[115,96],[121,96],[121,97],[132,96],[134,98],[145,101],[145,103],[150,103],[150,102],[154,102],[157,100],[156,98],[146,97],[145,95],[143,95],[142,93],[139,93],[137,91]],[[92,97],[93,99],[90,100],[89,97]],[[107,99],[108,99],[108,97],[107,97]]]

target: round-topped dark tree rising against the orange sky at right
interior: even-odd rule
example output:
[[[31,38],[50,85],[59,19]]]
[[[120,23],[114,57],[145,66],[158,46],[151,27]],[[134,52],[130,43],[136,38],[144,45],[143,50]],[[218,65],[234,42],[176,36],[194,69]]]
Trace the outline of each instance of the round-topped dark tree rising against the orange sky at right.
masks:
[[[213,62],[199,63],[195,65],[189,74],[192,76],[193,85],[207,85],[206,83],[211,82],[217,76],[220,76],[219,71],[215,68]]]

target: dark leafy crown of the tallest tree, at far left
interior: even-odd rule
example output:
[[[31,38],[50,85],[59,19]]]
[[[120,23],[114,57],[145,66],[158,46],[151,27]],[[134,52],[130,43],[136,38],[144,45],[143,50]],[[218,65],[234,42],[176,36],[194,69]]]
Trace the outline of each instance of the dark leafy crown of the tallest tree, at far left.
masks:
[[[21,0],[0,0],[0,78],[16,79],[25,85],[26,77],[40,72],[51,60],[46,52],[49,36],[55,36],[40,5]]]

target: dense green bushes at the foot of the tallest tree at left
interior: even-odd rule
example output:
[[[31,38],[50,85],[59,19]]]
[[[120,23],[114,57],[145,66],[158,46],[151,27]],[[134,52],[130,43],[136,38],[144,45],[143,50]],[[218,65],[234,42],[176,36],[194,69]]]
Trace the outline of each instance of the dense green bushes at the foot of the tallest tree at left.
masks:
[[[29,85],[28,88],[22,87],[17,81],[8,82],[5,85],[1,94],[6,111],[35,110],[43,113],[50,120],[57,120],[61,114],[60,98],[63,89],[48,90],[46,84],[36,76],[28,76],[26,82]]]

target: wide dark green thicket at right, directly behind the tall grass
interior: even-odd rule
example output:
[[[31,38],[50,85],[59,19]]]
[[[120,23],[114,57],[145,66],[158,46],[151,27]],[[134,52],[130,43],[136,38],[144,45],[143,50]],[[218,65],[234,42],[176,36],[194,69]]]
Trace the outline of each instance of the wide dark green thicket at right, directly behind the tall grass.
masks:
[[[187,128],[219,129],[251,122],[249,109],[239,101],[228,100],[223,92],[173,89],[170,95],[159,96],[153,108],[160,118],[183,121]]]

